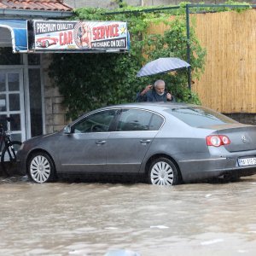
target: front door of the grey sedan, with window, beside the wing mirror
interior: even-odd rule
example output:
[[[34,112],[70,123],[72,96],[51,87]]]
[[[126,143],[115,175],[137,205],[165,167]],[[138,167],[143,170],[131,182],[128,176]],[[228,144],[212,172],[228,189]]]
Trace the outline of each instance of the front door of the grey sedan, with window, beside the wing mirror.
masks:
[[[59,151],[61,172],[106,172],[109,127],[117,110],[90,114],[63,133]]]

